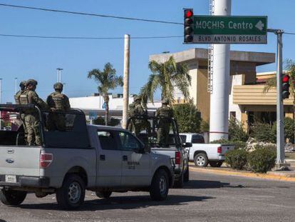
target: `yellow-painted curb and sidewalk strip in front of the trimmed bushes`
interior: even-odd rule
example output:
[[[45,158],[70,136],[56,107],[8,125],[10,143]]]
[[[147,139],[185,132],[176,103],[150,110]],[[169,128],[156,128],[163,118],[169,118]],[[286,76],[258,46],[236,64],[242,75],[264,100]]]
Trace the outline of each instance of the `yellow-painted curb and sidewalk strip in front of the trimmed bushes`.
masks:
[[[267,173],[252,173],[250,171],[234,170],[225,165],[220,168],[215,168],[215,167],[200,168],[195,166],[194,163],[190,163],[190,171],[195,171],[200,173],[214,173],[214,174],[244,176],[244,177],[250,177],[250,178],[264,178],[269,180],[295,182],[295,171],[269,171]]]

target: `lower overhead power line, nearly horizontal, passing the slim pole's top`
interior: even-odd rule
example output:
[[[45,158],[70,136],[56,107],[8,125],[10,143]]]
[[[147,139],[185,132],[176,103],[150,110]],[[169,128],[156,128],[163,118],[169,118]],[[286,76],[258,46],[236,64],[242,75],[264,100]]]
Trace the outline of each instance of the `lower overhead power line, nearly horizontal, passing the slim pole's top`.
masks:
[[[89,39],[89,40],[114,40],[124,39],[124,37],[83,37],[83,36],[28,36],[28,35],[14,35],[14,34],[0,34],[3,37],[16,38],[36,38],[36,39]],[[183,36],[135,36],[130,39],[172,39],[183,38]]]

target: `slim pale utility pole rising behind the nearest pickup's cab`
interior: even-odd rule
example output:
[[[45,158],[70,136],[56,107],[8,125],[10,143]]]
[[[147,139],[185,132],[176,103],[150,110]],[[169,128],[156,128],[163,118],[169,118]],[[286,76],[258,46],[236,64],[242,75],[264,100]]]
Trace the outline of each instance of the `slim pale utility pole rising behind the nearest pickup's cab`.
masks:
[[[124,83],[123,83],[123,122],[122,127],[126,128],[128,104],[129,104],[129,71],[130,71],[130,35],[124,36]]]

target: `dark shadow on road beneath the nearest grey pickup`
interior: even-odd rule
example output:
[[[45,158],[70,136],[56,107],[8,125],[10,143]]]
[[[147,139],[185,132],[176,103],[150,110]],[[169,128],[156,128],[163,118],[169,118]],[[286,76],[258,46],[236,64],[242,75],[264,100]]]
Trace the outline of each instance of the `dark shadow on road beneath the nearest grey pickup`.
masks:
[[[97,199],[85,201],[84,205],[78,211],[103,211],[111,209],[135,209],[147,208],[150,206],[179,206],[187,202],[205,201],[211,199],[211,196],[178,196],[170,195],[167,201],[151,201],[150,196],[115,196],[107,199]],[[46,211],[58,211],[58,205],[55,203],[41,204],[22,204],[20,208],[30,208]]]

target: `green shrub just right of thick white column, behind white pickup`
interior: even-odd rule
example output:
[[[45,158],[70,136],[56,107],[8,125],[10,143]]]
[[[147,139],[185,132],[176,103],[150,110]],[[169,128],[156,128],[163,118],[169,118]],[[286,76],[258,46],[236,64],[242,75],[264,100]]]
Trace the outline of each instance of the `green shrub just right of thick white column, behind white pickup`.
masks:
[[[248,139],[247,132],[244,131],[243,124],[236,118],[229,119],[229,140],[246,142]]]

